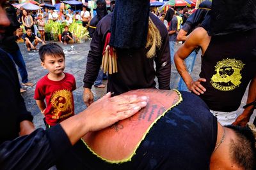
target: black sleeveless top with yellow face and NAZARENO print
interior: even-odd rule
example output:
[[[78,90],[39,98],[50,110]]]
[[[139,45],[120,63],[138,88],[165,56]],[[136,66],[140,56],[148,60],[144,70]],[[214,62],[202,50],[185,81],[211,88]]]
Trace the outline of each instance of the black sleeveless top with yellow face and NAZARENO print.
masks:
[[[200,97],[211,110],[235,111],[256,75],[256,29],[212,36],[202,56],[200,78],[206,92]]]

